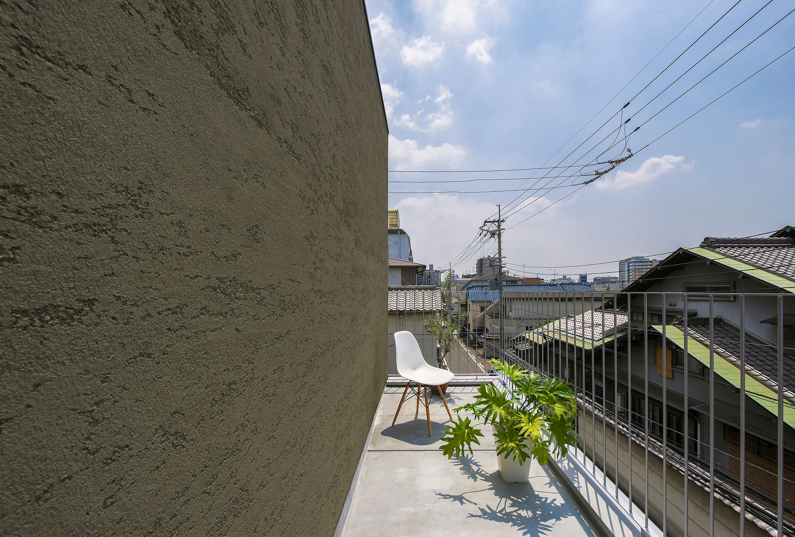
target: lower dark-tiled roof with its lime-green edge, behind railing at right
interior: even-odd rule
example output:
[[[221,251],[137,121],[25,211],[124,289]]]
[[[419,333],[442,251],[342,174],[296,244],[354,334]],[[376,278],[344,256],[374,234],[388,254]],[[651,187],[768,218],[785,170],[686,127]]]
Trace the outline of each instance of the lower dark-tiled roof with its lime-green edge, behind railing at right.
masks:
[[[705,334],[704,324],[699,325],[697,319],[693,321],[696,321],[696,325],[691,326],[690,323],[692,321],[688,320],[688,354],[709,368],[708,325]],[[715,352],[712,354],[712,364],[715,374],[739,388],[742,376],[739,368],[739,329],[735,329],[735,327],[726,322],[719,321],[719,317],[715,318],[714,325],[712,348]],[[721,326],[717,327],[717,325]],[[662,325],[653,325],[652,328],[662,333]],[[751,340],[748,340],[749,337]],[[684,350],[684,325],[666,325],[665,338]],[[761,340],[758,340],[758,338],[748,332],[746,332],[746,338],[747,343],[750,343],[750,345],[746,346],[746,371],[748,373],[745,379],[746,394],[774,416],[778,416],[778,382],[774,380],[778,377],[778,373],[774,373],[774,376],[771,377],[769,371],[771,362],[773,360],[778,361],[778,356],[770,351],[770,348],[763,344]],[[788,356],[785,356],[783,384],[785,401],[788,403],[784,405],[783,418],[789,426],[795,427],[795,405],[793,405],[795,394],[793,394],[791,385],[793,382],[792,373],[788,371],[789,368],[792,368],[792,361]]]

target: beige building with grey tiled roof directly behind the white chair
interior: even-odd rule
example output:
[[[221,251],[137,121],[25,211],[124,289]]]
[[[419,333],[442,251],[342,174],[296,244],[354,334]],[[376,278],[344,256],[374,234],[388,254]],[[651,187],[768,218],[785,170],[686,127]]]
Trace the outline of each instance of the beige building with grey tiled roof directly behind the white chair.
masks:
[[[438,287],[432,286],[401,286],[387,290],[388,316],[387,326],[389,340],[387,342],[387,370],[390,375],[397,375],[395,362],[394,333],[409,330],[420,344],[425,361],[436,367],[436,337],[430,333],[426,321],[432,313],[440,313],[443,307],[442,294]]]

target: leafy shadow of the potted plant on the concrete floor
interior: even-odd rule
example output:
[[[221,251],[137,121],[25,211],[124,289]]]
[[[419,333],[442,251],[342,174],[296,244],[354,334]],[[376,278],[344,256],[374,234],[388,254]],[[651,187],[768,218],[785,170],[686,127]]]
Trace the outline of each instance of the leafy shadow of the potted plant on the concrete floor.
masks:
[[[471,505],[474,511],[467,515],[468,518],[510,524],[522,531],[522,535],[533,535],[533,537],[550,535],[554,524],[562,519],[572,516],[582,519],[576,508],[564,504],[558,498],[537,494],[530,483],[503,482],[498,471],[488,473],[471,456],[462,456],[454,463],[467,474],[468,479],[481,481],[483,487],[460,494],[436,492],[436,496],[460,505]],[[495,504],[483,505],[467,497],[475,492],[486,491],[494,495]]]

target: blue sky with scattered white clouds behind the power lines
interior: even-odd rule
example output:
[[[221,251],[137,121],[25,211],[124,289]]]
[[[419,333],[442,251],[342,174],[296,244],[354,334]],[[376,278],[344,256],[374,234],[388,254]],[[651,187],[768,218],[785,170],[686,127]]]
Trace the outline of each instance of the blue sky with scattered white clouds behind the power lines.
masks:
[[[560,161],[568,165],[577,158],[582,158],[580,163],[589,162],[611,145],[615,135],[595,152],[586,154],[586,150],[615,130],[622,119],[631,116],[627,124],[631,128],[645,122],[793,8],[785,0],[770,2],[638,111],[765,5],[742,0],[620,114],[624,103],[735,2],[367,0],[390,125],[390,170],[529,168]],[[626,146],[637,154],[610,173],[554,205],[576,187],[525,193],[519,200],[532,195],[532,203],[515,214],[509,210],[509,229],[503,235],[506,261],[514,263],[511,271],[523,264],[562,267],[653,255],[695,246],[708,235],[752,235],[795,224],[795,51],[638,153],[793,45],[795,14],[632,134]],[[619,115],[603,130],[564,159],[616,112]],[[622,152],[623,134],[599,161],[627,155]],[[572,142],[564,146],[572,135]],[[561,146],[564,149],[553,156]],[[583,172],[608,166],[591,166]],[[523,181],[394,181],[539,177],[548,171],[390,173],[390,208],[400,210],[401,227],[412,238],[414,259],[447,267],[475,238],[496,204],[510,209],[510,201],[535,180],[516,193],[472,194],[430,193],[510,190]],[[553,171],[537,186],[561,169]],[[579,171],[580,166],[564,174]],[[591,177],[573,177],[568,182]],[[549,186],[562,180],[556,178]],[[396,194],[401,191],[423,194]],[[453,268],[461,274],[474,267],[477,257],[495,249],[495,245],[478,248]],[[552,272],[572,275],[608,270],[616,267],[526,272],[543,277]]]

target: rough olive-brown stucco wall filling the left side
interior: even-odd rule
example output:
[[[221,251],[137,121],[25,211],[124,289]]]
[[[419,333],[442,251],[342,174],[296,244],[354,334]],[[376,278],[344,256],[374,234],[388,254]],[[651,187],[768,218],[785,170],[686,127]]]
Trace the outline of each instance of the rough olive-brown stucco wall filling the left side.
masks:
[[[0,534],[332,535],[386,379],[363,3],[0,24]]]

